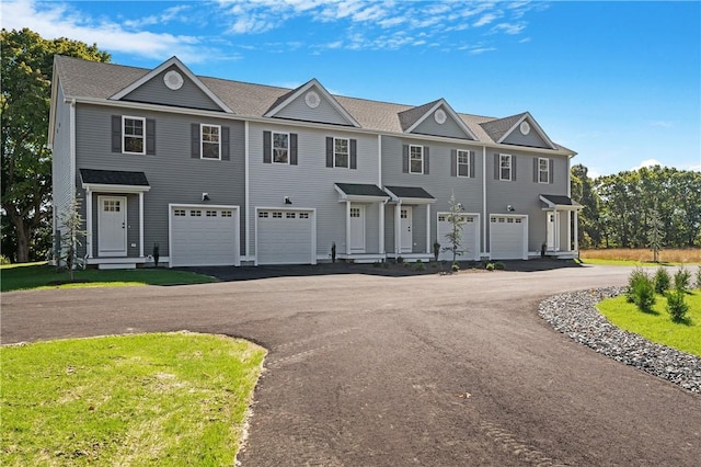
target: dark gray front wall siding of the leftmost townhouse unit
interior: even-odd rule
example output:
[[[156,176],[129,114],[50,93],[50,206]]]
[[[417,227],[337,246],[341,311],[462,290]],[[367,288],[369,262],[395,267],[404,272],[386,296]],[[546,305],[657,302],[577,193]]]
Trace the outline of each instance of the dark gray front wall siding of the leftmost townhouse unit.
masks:
[[[126,155],[112,152],[111,119],[118,114],[115,109],[104,106],[77,106],[76,124],[80,128],[77,138],[77,171],[79,169],[142,171],[151,190],[143,194],[143,254],[151,253],[153,243],[160,246],[162,257],[169,254],[168,243],[169,203],[203,204],[202,194],[209,194],[209,204],[244,206],[244,126],[241,122],[211,117],[191,117],[161,112],[137,112],[133,116],[156,119],[156,155]],[[230,129],[230,160],[203,160],[191,157],[193,123],[228,126]],[[79,184],[79,175],[77,174]],[[136,205],[133,200],[136,200]],[[96,197],[94,200],[96,204]],[[131,229],[136,237],[128,236],[128,246],[137,243],[138,255],[138,195],[129,195],[127,215],[136,215]],[[241,234],[245,230],[241,218]],[[97,219],[93,219],[96,225]],[[241,253],[244,252],[244,236],[241,235]],[[97,237],[93,238],[96,248]],[[96,252],[96,250],[95,250]],[[133,250],[129,247],[129,254]]]

